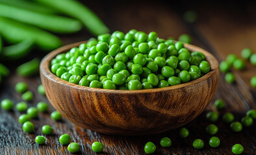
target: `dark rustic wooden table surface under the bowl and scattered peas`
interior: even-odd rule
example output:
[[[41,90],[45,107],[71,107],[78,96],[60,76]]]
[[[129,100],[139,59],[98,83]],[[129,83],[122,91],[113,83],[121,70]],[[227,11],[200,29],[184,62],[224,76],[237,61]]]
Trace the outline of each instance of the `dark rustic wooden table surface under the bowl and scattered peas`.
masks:
[[[230,53],[240,56],[240,50],[246,47],[256,52],[256,4],[253,1],[240,1],[240,3],[96,1],[85,4],[105,21],[112,32],[114,30],[127,32],[131,28],[136,28],[145,32],[156,31],[163,38],[170,36],[177,38],[180,34],[186,33],[192,36],[192,44],[205,48],[214,54],[218,61],[224,60]],[[188,24],[183,21],[182,17],[186,10],[198,12],[196,23]],[[83,30],[77,34],[60,37],[65,44],[68,44],[92,36]],[[36,50],[33,52],[31,57],[44,56]],[[38,101],[48,102],[45,96],[37,93],[37,87],[41,83],[39,76],[21,78],[15,73],[15,68],[23,61],[5,63],[11,68],[12,75],[1,85],[0,101],[5,98],[12,99],[15,104],[22,101],[21,94],[14,91],[14,86],[19,81],[25,81],[29,84],[29,90],[34,92],[33,101],[28,103],[30,107],[36,106]],[[232,71],[237,82],[230,85],[225,82],[224,74],[220,74],[218,90],[205,112],[185,125],[190,130],[190,136],[186,139],[179,138],[177,130],[147,136],[110,136],[83,129],[66,119],[55,122],[49,114],[40,114],[38,119],[33,119],[36,131],[34,134],[25,134],[18,123],[20,113],[16,110],[6,112],[0,108],[0,154],[70,154],[66,146],[58,143],[58,137],[64,133],[70,134],[72,141],[80,144],[80,154],[95,154],[90,148],[94,141],[100,141],[105,145],[101,154],[145,154],[144,145],[147,141],[153,141],[157,145],[155,154],[232,154],[231,147],[235,143],[243,145],[243,154],[256,154],[256,123],[244,128],[242,132],[235,133],[228,124],[221,121],[224,112],[232,112],[235,114],[235,120],[240,121],[247,110],[256,109],[256,89],[250,86],[250,78],[256,76],[256,67],[247,63],[246,70]],[[210,122],[205,119],[205,114],[209,110],[216,110],[213,101],[219,98],[224,99],[226,103],[225,109],[220,111],[220,119],[215,123],[219,127],[216,136],[220,138],[221,144],[218,148],[211,148],[208,144],[211,136],[205,132],[205,127]],[[49,112],[53,110],[54,108],[50,106]],[[42,134],[40,129],[45,124],[51,125],[55,131],[52,136],[47,136],[45,145],[38,146],[34,138]],[[160,147],[160,138],[164,136],[172,139],[170,148]],[[192,147],[192,142],[196,138],[201,138],[205,142],[203,149],[196,150]]]

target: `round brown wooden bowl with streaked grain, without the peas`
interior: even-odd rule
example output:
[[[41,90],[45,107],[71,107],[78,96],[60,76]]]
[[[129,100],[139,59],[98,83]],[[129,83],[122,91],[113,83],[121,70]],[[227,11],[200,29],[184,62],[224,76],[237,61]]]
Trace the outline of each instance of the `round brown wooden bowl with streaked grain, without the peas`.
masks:
[[[185,44],[191,51],[205,54],[211,71],[199,79],[165,88],[147,90],[107,90],[75,85],[50,71],[51,59],[81,43],[58,48],[44,57],[40,77],[46,96],[62,116],[71,122],[105,134],[157,134],[181,127],[196,118],[216,92],[218,61],[209,52]]]

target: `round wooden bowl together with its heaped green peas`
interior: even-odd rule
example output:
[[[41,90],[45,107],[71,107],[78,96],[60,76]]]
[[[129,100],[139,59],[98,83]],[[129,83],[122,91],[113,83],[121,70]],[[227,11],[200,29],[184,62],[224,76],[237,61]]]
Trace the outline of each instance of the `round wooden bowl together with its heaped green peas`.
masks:
[[[58,48],[40,77],[50,103],[85,129],[156,134],[196,118],[216,92],[218,61],[156,32],[116,31]]]

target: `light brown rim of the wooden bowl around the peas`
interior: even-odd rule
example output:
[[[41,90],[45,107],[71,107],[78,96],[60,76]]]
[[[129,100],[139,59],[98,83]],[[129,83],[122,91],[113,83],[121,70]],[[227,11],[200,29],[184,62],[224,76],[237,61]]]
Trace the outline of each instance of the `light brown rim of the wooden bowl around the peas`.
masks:
[[[209,62],[210,66],[211,66],[210,72],[208,72],[204,76],[201,76],[200,78],[190,81],[188,83],[181,83],[179,85],[173,85],[173,86],[164,87],[164,88],[152,88],[152,89],[142,89],[142,90],[111,90],[111,89],[104,89],[104,88],[85,87],[85,86],[70,83],[68,81],[65,81],[64,79],[58,78],[50,70],[51,60],[55,56],[57,56],[58,54],[64,53],[64,52],[68,52],[68,50],[70,50],[73,47],[79,47],[79,45],[81,45],[81,43],[86,43],[86,41],[79,41],[76,43],[71,43],[69,45],[65,45],[63,47],[57,48],[56,50],[53,50],[52,52],[47,54],[42,59],[42,61],[40,63],[41,76],[44,75],[45,78],[48,78],[51,81],[54,81],[54,82],[62,84],[62,85],[66,85],[68,87],[78,88],[81,90],[87,90],[87,91],[92,91],[92,92],[108,92],[108,93],[112,93],[112,94],[138,94],[138,93],[142,94],[142,93],[155,93],[155,92],[162,92],[162,91],[167,91],[167,90],[175,90],[178,88],[187,87],[189,85],[194,85],[201,81],[205,81],[206,79],[214,76],[214,74],[216,74],[216,72],[220,72],[219,71],[219,63],[218,63],[216,57],[214,57],[211,53],[207,52],[203,48],[199,48],[199,47],[196,47],[195,45],[190,45],[190,44],[184,43],[184,47],[188,48],[188,50],[202,52],[205,55],[207,61]]]

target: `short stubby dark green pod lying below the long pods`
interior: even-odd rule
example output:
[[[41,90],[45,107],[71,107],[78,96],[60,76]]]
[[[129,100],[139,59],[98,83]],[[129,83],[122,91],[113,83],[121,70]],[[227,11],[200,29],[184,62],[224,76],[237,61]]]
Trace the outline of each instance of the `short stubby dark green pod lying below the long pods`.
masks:
[[[34,45],[32,39],[25,39],[16,45],[10,45],[3,48],[3,59],[16,60],[27,56]]]

